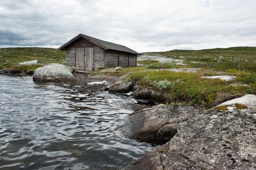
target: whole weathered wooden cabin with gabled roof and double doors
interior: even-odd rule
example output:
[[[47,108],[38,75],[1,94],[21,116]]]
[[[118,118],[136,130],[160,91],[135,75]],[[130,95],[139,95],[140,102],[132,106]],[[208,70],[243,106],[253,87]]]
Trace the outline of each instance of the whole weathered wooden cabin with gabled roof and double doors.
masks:
[[[79,34],[58,50],[66,51],[67,65],[92,71],[104,67],[137,66],[138,52],[128,47]]]

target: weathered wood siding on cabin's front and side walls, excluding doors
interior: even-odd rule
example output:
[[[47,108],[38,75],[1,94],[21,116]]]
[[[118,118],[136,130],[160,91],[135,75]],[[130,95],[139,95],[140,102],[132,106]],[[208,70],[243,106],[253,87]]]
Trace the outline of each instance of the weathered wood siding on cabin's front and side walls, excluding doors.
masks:
[[[116,50],[106,51],[82,37],[66,47],[66,62],[68,65],[76,67],[76,48],[81,47],[93,47],[94,68],[136,66],[136,54]]]

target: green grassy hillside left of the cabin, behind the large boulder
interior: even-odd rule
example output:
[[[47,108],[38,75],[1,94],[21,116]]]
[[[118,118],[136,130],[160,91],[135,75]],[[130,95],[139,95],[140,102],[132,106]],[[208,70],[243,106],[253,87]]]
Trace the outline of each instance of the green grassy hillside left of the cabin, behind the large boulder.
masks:
[[[38,60],[39,64],[65,64],[65,53],[57,49],[37,47],[0,49],[0,69],[12,68],[20,62],[31,60]]]

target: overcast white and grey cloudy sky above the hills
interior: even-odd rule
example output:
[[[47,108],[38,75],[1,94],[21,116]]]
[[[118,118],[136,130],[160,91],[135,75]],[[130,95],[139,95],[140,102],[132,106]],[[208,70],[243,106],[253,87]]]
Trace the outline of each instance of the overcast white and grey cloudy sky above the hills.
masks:
[[[256,0],[0,0],[0,48],[79,33],[138,52],[256,46]]]

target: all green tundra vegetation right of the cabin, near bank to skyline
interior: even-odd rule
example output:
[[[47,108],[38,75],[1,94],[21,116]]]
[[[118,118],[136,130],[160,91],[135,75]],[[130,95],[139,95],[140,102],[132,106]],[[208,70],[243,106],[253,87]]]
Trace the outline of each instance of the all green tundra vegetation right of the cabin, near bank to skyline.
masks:
[[[256,47],[198,51],[173,50],[146,54],[182,59],[187,64],[186,66],[173,66],[175,68],[201,68],[197,72],[132,71],[133,68],[126,68],[115,73],[132,71],[125,80],[134,81],[145,88],[151,86],[169,95],[171,100],[167,103],[170,105],[199,104],[210,108],[231,96],[245,93],[256,94]],[[141,69],[160,68],[152,67],[158,62],[148,62],[148,64],[148,67]],[[202,78],[202,76],[214,75],[230,75],[236,78],[228,81]]]

